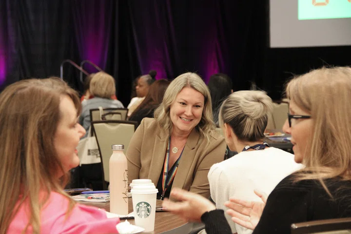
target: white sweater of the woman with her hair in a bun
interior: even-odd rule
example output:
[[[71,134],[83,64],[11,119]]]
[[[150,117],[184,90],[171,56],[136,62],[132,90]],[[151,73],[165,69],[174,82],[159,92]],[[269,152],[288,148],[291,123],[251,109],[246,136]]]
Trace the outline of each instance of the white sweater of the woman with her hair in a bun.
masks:
[[[283,150],[269,147],[264,150],[244,151],[223,162],[214,164],[208,174],[211,197],[217,209],[226,211],[224,202],[229,197],[261,201],[254,189],[269,195],[286,176],[303,168],[294,156]],[[251,234],[253,231],[235,224],[225,216],[233,233]]]

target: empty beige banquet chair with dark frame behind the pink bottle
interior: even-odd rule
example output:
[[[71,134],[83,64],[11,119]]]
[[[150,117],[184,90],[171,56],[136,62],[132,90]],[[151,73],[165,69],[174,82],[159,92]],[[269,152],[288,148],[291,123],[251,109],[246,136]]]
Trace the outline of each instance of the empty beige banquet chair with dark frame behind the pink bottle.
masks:
[[[137,122],[124,120],[99,120],[93,121],[92,126],[101,157],[103,189],[107,190],[107,184],[105,181],[110,181],[109,160],[112,155],[111,146],[116,144],[124,145],[125,154],[129,142],[137,129]]]

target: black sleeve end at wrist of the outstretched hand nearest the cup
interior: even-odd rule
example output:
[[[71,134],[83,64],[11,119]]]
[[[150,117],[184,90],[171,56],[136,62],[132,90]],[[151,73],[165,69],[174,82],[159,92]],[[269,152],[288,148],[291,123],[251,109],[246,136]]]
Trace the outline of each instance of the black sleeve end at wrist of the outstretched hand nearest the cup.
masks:
[[[201,221],[205,224],[207,234],[232,234],[223,210],[213,210],[205,212],[201,216]]]

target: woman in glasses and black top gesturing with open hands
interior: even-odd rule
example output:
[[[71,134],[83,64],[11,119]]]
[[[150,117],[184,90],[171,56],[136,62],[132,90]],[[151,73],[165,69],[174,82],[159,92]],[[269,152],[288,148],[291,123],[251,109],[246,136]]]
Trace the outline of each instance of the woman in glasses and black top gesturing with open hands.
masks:
[[[285,177],[261,201],[230,198],[225,205],[237,224],[254,234],[290,233],[292,223],[351,217],[351,68],[321,68],[292,79],[284,132],[291,134],[294,160],[304,169]],[[321,95],[323,94],[323,95]],[[187,191],[173,191],[181,203],[163,206],[205,223],[207,234],[232,233],[222,210]],[[177,206],[175,206],[177,205]]]

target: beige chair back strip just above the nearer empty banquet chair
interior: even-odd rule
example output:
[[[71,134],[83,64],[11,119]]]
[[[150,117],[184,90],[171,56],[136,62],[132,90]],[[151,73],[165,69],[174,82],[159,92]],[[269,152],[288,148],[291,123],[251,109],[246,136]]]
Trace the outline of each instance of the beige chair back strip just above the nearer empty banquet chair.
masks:
[[[103,108],[102,119],[106,120],[126,120],[127,119],[127,108]],[[90,121],[100,120],[100,110],[90,109]]]

